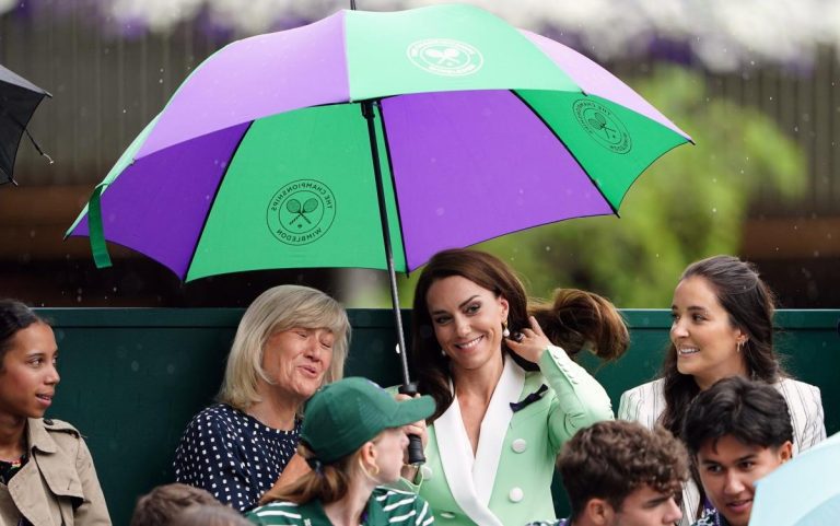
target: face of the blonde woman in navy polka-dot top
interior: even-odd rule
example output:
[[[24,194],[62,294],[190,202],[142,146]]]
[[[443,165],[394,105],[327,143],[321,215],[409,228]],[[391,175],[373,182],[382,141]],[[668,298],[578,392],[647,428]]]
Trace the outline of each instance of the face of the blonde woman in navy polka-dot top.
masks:
[[[324,383],[332,363],[335,336],[325,328],[293,327],[272,334],[262,351],[262,370],[284,396],[304,401]]]

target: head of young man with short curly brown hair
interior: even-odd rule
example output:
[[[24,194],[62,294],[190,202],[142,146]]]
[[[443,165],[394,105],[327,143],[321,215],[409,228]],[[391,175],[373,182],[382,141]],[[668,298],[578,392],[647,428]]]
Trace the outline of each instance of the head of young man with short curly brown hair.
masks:
[[[675,498],[688,476],[688,457],[662,428],[598,422],[563,446],[558,467],[575,526],[660,526],[682,516]]]

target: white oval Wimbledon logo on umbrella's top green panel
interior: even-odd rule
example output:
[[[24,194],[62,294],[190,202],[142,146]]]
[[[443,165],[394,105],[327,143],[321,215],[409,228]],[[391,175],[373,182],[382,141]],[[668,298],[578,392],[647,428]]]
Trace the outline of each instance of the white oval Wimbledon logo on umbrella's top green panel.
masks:
[[[481,69],[485,58],[469,44],[450,38],[418,40],[406,50],[411,63],[443,77],[464,77]]]

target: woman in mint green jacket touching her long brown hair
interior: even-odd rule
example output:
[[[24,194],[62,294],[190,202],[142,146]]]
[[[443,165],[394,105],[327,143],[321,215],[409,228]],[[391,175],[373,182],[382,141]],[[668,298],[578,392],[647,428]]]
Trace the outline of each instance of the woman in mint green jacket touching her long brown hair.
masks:
[[[571,356],[620,355],[628,331],[595,294],[556,291],[528,307],[511,268],[474,249],[436,254],[415,292],[412,361],[438,405],[427,464],[404,475],[447,524],[553,517],[555,458],[578,430],[612,418],[604,388]]]

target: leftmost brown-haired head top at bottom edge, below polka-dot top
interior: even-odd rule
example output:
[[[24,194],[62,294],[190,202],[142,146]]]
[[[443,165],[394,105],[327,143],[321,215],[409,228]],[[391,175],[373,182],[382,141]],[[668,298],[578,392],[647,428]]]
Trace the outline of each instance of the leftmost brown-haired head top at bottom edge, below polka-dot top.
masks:
[[[131,526],[166,526],[189,506],[202,504],[222,506],[208,491],[173,483],[159,486],[137,500]]]

